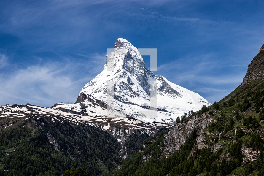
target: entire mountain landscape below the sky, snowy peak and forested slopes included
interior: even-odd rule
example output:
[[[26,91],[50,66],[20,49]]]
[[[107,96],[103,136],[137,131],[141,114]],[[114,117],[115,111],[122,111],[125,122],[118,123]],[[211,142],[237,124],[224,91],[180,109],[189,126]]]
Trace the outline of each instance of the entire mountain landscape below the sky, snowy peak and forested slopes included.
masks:
[[[263,89],[264,45],[211,105],[119,38],[74,104],[0,106],[0,175],[263,176]]]

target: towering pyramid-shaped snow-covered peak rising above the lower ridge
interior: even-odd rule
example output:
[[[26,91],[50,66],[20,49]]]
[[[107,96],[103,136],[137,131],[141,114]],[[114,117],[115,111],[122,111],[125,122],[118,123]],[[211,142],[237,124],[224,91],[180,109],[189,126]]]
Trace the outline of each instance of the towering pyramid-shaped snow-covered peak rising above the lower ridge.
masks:
[[[151,109],[155,89],[158,112],[156,115],[146,115],[144,112]],[[112,92],[107,92],[109,90]],[[111,101],[108,99],[110,94],[113,95]],[[114,110],[144,122],[174,123],[177,116],[210,105],[197,93],[171,83],[163,76],[155,76],[145,67],[138,49],[122,38],[116,40],[113,52],[107,55],[104,70],[85,84],[79,93],[82,96],[79,103],[89,107],[85,102],[90,104],[91,99],[83,98],[84,95],[92,96]]]

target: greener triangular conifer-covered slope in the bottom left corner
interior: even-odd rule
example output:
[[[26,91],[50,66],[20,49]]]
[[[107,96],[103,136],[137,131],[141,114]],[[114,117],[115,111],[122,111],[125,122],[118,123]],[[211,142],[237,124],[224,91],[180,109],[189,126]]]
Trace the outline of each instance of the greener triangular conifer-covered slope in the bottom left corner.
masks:
[[[34,134],[21,140],[15,152],[2,159],[2,164],[1,175],[5,176],[38,175],[48,171],[58,175],[71,165],[71,159],[56,151],[43,131],[36,127]]]

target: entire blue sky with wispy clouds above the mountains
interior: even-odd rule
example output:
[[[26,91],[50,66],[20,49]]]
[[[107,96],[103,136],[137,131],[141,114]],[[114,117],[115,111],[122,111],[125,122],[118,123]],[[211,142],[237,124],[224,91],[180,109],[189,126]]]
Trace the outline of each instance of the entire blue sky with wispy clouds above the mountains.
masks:
[[[169,81],[219,101],[264,43],[262,1],[0,1],[0,104],[74,103],[119,38]],[[150,67],[150,57],[144,57]]]

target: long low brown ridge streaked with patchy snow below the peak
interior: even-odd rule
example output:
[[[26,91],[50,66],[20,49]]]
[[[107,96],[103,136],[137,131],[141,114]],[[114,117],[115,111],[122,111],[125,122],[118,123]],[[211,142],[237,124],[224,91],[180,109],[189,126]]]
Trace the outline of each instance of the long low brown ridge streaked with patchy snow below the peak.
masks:
[[[29,118],[47,118],[51,121],[60,121],[68,120],[71,123],[80,124],[86,123],[92,126],[100,126],[101,129],[108,131],[110,134],[115,135],[119,140],[123,140],[123,136],[118,136],[114,133],[116,129],[139,129],[146,130],[148,129],[149,134],[155,134],[161,127],[170,127],[171,125],[165,123],[143,123],[140,120],[136,120],[131,117],[116,117],[108,118],[106,115],[100,115],[101,112],[88,111],[85,108],[80,107],[80,103],[76,104],[63,104],[56,103],[54,107],[56,108],[47,108],[40,107],[31,104],[27,105],[11,105],[11,106],[0,106],[0,118],[8,119],[9,126],[13,123],[16,123],[18,120],[27,120]],[[99,106],[92,105],[97,109]],[[98,108],[99,109],[99,108]],[[103,108],[104,109],[104,108]],[[102,110],[103,110],[102,109]],[[8,126],[6,126],[8,127]],[[5,128],[6,128],[5,127]]]

